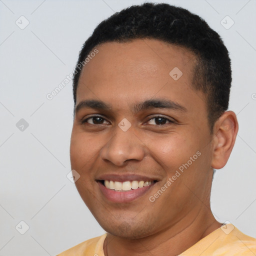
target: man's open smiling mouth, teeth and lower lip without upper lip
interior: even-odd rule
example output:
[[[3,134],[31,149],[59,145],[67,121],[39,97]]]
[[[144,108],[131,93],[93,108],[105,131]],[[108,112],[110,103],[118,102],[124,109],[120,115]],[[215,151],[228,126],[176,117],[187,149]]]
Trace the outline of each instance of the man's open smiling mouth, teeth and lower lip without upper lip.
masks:
[[[125,203],[145,195],[157,180],[96,180],[104,200],[115,203]]]

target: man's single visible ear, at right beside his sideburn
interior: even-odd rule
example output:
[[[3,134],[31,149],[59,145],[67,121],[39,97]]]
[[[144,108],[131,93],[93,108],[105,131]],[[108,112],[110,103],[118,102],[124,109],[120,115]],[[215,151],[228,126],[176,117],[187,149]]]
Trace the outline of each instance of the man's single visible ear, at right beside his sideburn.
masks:
[[[233,111],[224,112],[213,127],[213,148],[211,167],[220,169],[225,166],[233,149],[238,131],[238,122]]]

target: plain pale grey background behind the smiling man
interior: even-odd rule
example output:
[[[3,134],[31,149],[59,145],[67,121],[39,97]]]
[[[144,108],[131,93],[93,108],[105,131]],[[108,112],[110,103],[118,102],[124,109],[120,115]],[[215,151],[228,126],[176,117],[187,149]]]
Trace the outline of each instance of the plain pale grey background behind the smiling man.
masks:
[[[211,207],[218,221],[256,237],[256,2],[165,2],[204,18],[230,52],[229,109],[239,132],[228,163],[215,174]],[[102,19],[139,3],[0,0],[0,255],[54,255],[104,232],[66,177],[71,81],[51,100],[46,94],[72,72],[81,45]],[[21,15],[29,21],[24,29],[15,23],[25,24]],[[234,21],[228,29],[226,15]],[[16,127],[21,118],[28,123],[23,131]],[[29,226],[24,234],[21,220]]]

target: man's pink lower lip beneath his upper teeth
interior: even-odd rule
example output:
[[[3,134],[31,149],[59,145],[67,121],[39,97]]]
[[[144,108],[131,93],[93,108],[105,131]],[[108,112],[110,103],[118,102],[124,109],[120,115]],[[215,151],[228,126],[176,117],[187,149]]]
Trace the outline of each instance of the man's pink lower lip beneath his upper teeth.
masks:
[[[112,202],[130,202],[137,199],[148,191],[155,183],[149,186],[143,186],[137,189],[131,189],[128,191],[115,191],[113,189],[106,188],[102,183],[97,182],[103,195]]]

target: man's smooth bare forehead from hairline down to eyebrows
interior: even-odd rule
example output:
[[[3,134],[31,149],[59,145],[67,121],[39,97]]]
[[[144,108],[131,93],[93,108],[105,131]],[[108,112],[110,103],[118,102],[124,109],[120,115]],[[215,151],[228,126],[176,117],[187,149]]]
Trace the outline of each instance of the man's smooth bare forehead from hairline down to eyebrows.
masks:
[[[184,47],[156,39],[137,39],[106,42],[95,48],[98,53],[80,74],[77,103],[84,98],[113,103],[116,99],[142,101],[154,96],[182,103],[191,94],[196,58]]]

